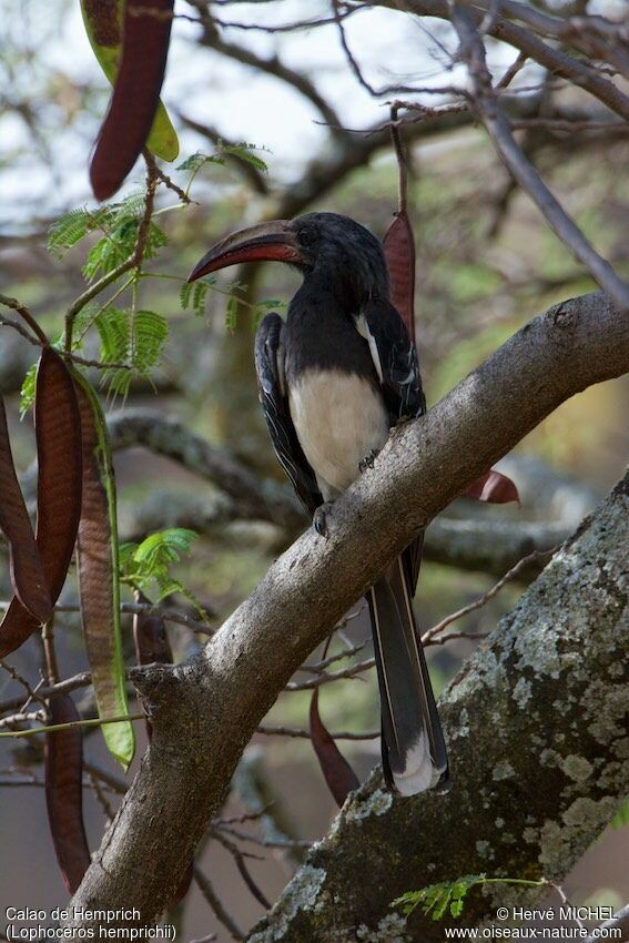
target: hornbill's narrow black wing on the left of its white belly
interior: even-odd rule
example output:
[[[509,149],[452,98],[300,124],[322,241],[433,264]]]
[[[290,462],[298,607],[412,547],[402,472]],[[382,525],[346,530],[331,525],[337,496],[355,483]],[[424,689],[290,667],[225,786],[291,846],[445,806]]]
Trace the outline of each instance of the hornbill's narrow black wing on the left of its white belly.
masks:
[[[267,314],[255,335],[255,372],[266,427],[275,455],[310,515],[323,504],[313,469],[302,450],[285,395],[284,324],[278,314]]]

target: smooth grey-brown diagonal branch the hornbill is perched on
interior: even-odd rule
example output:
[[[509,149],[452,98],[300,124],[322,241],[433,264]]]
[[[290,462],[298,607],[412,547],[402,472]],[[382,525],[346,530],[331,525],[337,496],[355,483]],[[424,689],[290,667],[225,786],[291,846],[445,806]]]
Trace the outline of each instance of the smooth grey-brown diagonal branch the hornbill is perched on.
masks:
[[[426,417],[396,430],[373,474],[336,503],[328,539],[312,528],[301,537],[199,656],[133,672],[150,703],[153,741],[73,904],[115,909],[132,901],[140,923],[151,922],[244,746],[329,627],[418,529],[561,402],[628,368],[629,322],[605,296],[552,307]],[[476,754],[473,765],[480,765]],[[536,768],[539,792],[537,777]]]

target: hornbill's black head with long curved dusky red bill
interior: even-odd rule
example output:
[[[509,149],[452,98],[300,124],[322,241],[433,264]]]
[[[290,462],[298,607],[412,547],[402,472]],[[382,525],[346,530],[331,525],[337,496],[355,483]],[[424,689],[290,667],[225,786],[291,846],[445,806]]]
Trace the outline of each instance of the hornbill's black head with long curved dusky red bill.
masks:
[[[388,275],[378,240],[349,216],[306,213],[258,223],[227,236],[201,258],[189,282],[241,262],[287,262],[351,304],[388,297]]]

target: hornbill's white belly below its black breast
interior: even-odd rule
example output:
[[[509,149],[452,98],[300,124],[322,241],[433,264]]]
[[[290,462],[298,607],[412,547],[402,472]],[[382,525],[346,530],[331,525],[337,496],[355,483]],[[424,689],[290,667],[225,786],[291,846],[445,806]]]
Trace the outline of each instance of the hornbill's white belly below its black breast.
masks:
[[[388,437],[388,416],[366,379],[337,371],[306,371],[288,391],[297,438],[326,500],[359,475],[358,463]]]

